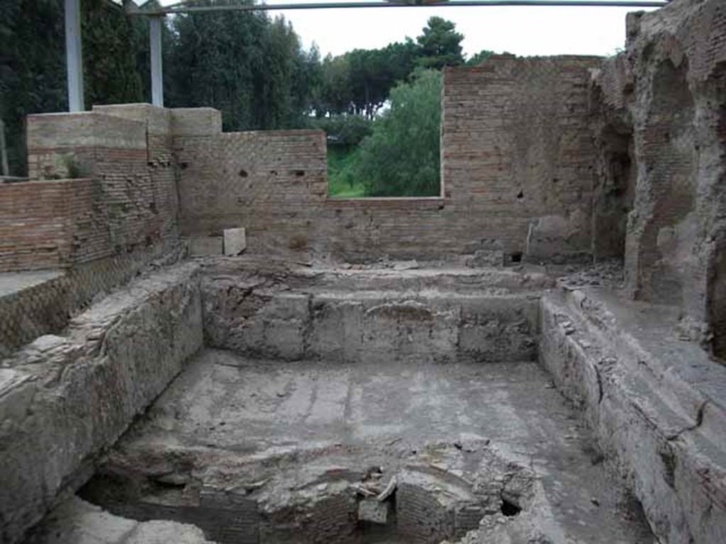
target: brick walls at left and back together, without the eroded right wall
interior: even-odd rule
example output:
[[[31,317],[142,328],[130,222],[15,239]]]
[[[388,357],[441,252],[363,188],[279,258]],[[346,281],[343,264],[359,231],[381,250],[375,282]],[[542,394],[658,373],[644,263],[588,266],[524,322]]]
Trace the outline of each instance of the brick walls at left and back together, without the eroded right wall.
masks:
[[[134,253],[175,239],[177,223],[192,238],[242,227],[248,252],[303,259],[582,257],[590,252],[587,100],[597,62],[502,55],[446,70],[443,191],[433,198],[329,199],[322,132],[221,133],[210,108],[31,115],[30,173],[46,181],[0,187],[8,195],[0,205],[15,210],[0,223],[9,229],[0,271]],[[88,179],[47,179],[69,173]],[[39,188],[44,198],[36,199]]]

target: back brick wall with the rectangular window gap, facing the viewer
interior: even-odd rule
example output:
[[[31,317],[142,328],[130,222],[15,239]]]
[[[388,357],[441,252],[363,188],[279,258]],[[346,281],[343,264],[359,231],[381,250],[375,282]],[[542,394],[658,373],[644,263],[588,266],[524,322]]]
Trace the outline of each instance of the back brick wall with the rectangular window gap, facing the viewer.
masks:
[[[587,87],[597,62],[494,56],[447,69],[441,197],[329,199],[323,133],[189,123],[174,138],[181,232],[219,239],[241,226],[248,252],[299,259],[582,258],[595,181]]]

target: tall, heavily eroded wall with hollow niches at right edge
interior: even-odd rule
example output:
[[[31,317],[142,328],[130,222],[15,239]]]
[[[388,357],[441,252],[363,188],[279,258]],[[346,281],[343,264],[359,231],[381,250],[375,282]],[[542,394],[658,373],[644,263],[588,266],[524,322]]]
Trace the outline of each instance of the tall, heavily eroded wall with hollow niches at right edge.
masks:
[[[675,0],[630,14],[627,33],[627,51],[595,79],[600,140],[620,139],[603,162],[627,170],[614,184],[629,194],[627,286],[680,305],[685,334],[707,339],[710,326],[726,353],[726,5]]]

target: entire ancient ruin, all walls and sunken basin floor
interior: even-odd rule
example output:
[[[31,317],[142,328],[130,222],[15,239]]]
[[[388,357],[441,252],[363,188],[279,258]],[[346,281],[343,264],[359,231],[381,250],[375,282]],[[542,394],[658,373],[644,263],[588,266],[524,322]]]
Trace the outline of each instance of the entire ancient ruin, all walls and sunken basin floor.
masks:
[[[3,543],[726,542],[726,2],[441,100],[425,198],[211,108],[28,116]]]

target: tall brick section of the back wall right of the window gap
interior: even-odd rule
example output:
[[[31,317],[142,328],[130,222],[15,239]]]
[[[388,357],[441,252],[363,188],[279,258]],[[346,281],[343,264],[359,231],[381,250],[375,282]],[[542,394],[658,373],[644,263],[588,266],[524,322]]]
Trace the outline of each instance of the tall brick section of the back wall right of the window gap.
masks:
[[[597,57],[495,55],[444,75],[443,172],[458,231],[552,260],[590,252],[587,86]],[[471,236],[471,234],[469,236]]]

